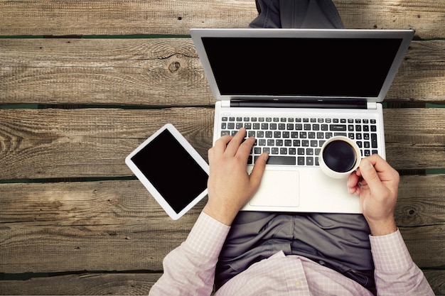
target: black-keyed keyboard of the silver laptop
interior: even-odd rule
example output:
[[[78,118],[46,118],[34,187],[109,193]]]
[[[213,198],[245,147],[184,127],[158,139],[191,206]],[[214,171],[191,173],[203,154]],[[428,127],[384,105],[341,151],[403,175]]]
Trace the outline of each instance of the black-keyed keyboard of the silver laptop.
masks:
[[[321,146],[333,136],[354,140],[362,156],[377,153],[375,119],[224,116],[221,122],[220,136],[235,136],[244,127],[247,137],[255,137],[248,164],[268,152],[268,164],[315,166]]]

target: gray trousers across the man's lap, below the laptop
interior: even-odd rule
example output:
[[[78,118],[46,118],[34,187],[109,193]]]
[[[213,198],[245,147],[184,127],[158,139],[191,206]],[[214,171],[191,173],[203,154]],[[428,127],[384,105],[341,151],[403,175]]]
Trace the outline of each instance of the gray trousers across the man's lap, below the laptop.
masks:
[[[240,212],[220,253],[215,289],[284,251],[336,270],[375,294],[369,234],[361,214]]]

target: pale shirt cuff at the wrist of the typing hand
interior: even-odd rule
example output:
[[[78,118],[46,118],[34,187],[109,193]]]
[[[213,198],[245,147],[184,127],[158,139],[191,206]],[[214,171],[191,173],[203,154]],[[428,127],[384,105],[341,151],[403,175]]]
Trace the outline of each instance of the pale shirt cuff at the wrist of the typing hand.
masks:
[[[189,248],[203,256],[218,257],[229,231],[230,226],[224,225],[208,214],[201,212],[185,243]]]

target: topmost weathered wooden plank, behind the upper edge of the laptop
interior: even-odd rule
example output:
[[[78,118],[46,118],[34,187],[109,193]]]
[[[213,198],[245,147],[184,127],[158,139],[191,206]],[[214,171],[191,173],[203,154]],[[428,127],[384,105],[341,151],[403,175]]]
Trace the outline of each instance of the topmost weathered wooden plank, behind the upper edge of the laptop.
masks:
[[[414,28],[444,38],[445,4],[434,0],[334,1],[347,28]],[[0,35],[188,34],[189,28],[245,28],[254,0],[0,1]]]

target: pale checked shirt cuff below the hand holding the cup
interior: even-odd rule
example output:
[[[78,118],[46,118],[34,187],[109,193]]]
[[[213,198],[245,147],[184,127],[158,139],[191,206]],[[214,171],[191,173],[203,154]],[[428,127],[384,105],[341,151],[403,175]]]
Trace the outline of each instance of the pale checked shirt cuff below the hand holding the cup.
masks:
[[[412,266],[412,258],[398,229],[385,236],[370,236],[370,243],[375,269],[396,272]]]

